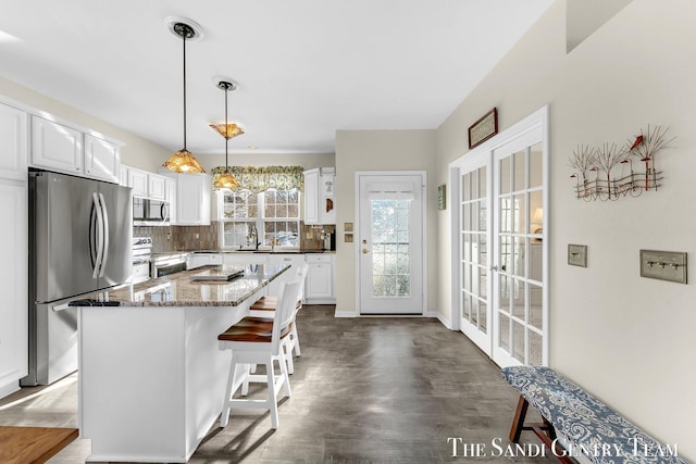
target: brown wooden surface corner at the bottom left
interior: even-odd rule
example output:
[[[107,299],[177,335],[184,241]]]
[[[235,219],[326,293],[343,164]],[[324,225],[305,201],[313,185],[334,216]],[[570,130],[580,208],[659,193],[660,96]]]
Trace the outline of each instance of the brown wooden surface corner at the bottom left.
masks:
[[[76,428],[0,427],[0,463],[45,463],[76,438]]]

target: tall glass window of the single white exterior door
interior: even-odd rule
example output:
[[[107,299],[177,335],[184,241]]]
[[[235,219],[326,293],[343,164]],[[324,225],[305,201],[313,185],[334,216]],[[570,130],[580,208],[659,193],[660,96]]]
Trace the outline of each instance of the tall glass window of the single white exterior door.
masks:
[[[373,296],[410,297],[411,202],[372,200]]]

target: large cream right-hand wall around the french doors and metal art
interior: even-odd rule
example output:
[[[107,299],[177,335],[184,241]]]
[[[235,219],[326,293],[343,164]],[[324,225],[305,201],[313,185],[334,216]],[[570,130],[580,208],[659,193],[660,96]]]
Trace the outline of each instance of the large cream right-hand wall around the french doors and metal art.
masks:
[[[696,459],[696,280],[641,278],[638,250],[696,260],[696,3],[634,0],[570,54],[558,0],[437,130],[435,184],[463,155],[465,128],[494,106],[500,130],[550,105],[551,365],[657,438]],[[639,198],[584,202],[568,158],[580,143],[623,143],[647,125],[670,126],[657,155],[663,186]],[[545,212],[545,214],[547,214]],[[438,272],[449,275],[449,214],[438,218]],[[588,267],[567,264],[588,246]],[[450,283],[438,279],[450,313]]]

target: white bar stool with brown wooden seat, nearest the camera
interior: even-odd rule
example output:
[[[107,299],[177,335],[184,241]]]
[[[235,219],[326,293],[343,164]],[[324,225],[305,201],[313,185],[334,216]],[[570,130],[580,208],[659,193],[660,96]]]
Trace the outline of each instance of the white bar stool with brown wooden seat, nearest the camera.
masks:
[[[281,389],[285,390],[287,397],[291,394],[283,340],[291,330],[299,288],[299,280],[281,284],[274,318],[245,317],[217,336],[220,349],[232,350],[227,388],[220,418],[221,427],[227,425],[229,410],[237,407],[268,409],[271,412],[272,427],[278,428],[277,396]],[[275,375],[275,361],[281,368],[279,375]],[[257,364],[265,365],[265,375],[254,375],[249,372],[249,366]],[[241,387],[241,394],[246,396],[249,383],[265,383],[268,398],[265,400],[233,398],[239,387]]]

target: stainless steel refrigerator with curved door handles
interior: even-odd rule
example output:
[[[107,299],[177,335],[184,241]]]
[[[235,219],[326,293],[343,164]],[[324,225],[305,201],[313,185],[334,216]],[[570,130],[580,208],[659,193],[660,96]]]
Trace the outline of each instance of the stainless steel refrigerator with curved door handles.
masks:
[[[29,374],[48,385],[77,369],[77,310],[67,302],[132,274],[129,187],[29,172]]]

